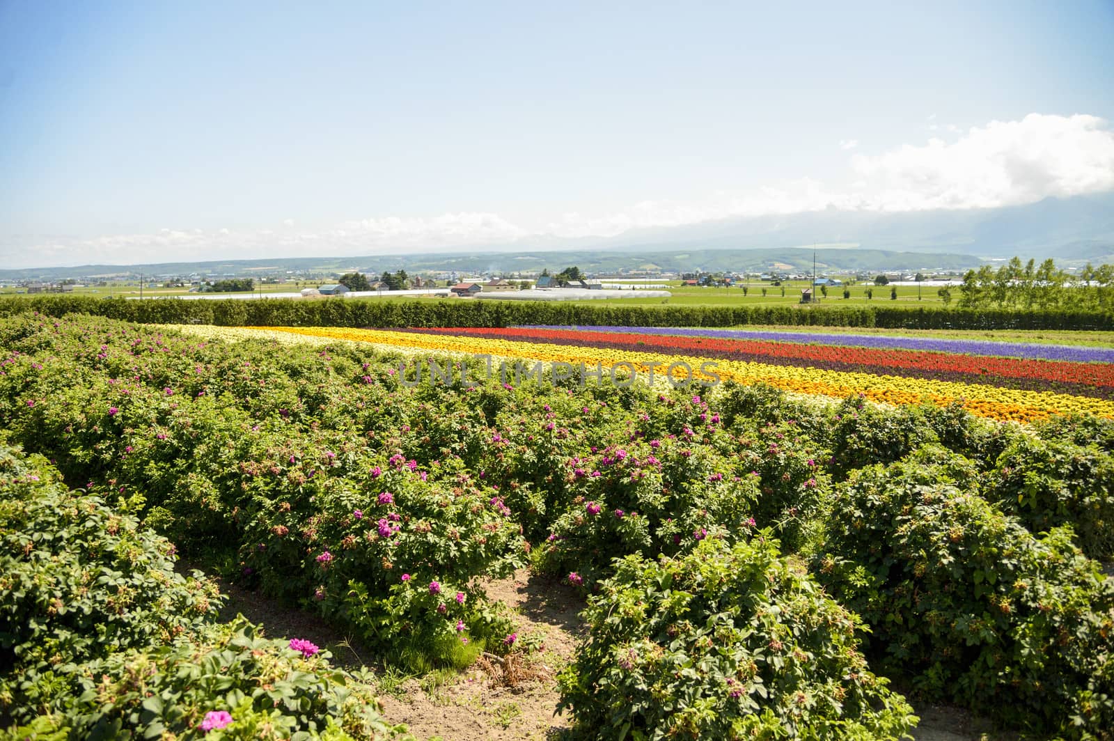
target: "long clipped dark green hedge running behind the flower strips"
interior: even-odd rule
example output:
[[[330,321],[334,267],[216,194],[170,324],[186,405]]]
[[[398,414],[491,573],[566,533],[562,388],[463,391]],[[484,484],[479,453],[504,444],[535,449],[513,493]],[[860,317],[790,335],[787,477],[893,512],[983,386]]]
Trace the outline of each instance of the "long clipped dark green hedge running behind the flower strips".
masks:
[[[604,324],[737,326],[797,324],[954,330],[1114,330],[1114,313],[918,306],[632,306],[563,301],[382,301],[290,299],[128,301],[92,296],[3,296],[0,316],[86,313],[140,323],[221,326],[510,326]]]

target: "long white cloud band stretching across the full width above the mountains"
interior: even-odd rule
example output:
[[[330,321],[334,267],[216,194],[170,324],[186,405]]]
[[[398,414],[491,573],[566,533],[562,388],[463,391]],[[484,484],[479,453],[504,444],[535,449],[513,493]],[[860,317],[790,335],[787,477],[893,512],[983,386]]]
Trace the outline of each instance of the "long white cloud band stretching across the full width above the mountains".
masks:
[[[932,127],[935,114],[929,117]],[[1114,131],[1094,116],[1030,114],[990,121],[951,142],[930,138],[880,154],[853,154],[839,186],[813,178],[770,184],[749,192],[715,192],[697,201],[644,201],[617,213],[567,213],[526,228],[496,213],[460,212],[432,217],[380,216],[310,231],[283,221],[271,230],[215,232],[164,228],[91,240],[20,238],[0,245],[8,266],[88,263],[154,263],[168,260],[273,257],[299,254],[365,255],[468,245],[514,244],[529,236],[614,236],[632,228],[678,226],[732,216],[791,214],[823,208],[925,211],[991,208],[1114,189]],[[851,150],[856,139],[840,142]]]

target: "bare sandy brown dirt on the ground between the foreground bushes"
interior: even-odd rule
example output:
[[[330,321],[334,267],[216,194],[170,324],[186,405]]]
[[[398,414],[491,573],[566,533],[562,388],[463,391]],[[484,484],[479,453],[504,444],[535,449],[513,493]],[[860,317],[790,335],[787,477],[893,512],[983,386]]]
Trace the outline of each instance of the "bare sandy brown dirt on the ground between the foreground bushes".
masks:
[[[229,599],[223,617],[243,613],[262,623],[271,637],[302,637],[328,647],[333,661],[348,669],[369,665],[379,676],[377,692],[383,714],[405,723],[418,739],[443,741],[556,741],[570,727],[557,715],[556,673],[571,661],[585,633],[579,620],[584,602],[571,588],[520,569],[487,584],[487,593],[511,608],[519,635],[541,636],[544,650],[528,664],[481,657],[461,674],[431,673],[398,677],[377,666],[367,649],[321,618],[276,606],[261,595],[222,584]],[[920,724],[916,741],[1008,741],[984,719],[947,705],[915,704]]]

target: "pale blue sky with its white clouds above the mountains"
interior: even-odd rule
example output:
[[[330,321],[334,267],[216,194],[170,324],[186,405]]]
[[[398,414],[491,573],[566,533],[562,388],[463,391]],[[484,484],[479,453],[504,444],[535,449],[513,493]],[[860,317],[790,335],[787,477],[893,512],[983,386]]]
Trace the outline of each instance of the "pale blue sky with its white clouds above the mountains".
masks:
[[[0,266],[1101,192],[1112,38],[1111,0],[0,1]]]

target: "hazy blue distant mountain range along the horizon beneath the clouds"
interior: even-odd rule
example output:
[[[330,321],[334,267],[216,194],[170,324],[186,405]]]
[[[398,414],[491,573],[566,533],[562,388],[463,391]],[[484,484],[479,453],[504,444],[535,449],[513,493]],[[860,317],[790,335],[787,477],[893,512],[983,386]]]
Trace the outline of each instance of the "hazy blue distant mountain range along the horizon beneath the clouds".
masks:
[[[537,272],[577,265],[592,273],[811,270],[829,272],[966,270],[1017,255],[1061,266],[1114,263],[1114,193],[1046,198],[1024,206],[906,213],[830,208],[631,230],[609,238],[522,238],[429,254],[289,257],[0,270],[0,280],[96,275],[331,274],[404,269],[480,273]]]

